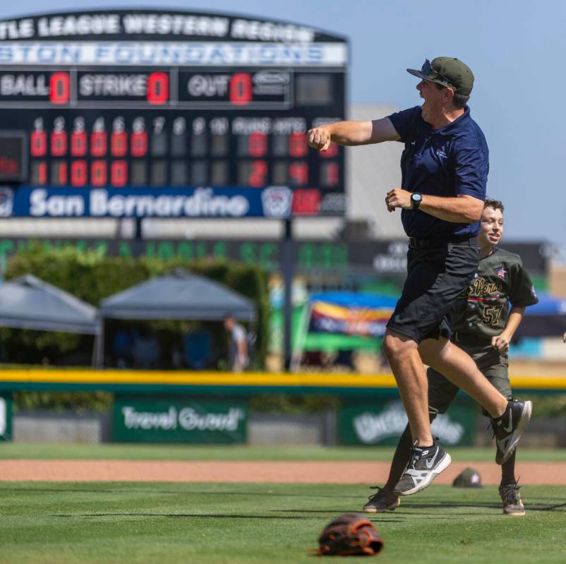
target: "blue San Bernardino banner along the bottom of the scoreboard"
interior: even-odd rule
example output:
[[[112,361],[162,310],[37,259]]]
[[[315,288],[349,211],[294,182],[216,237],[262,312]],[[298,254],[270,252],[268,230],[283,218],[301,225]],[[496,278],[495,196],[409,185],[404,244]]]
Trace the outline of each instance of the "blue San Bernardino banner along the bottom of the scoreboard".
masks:
[[[0,188],[0,217],[271,217],[293,193],[268,188]]]

